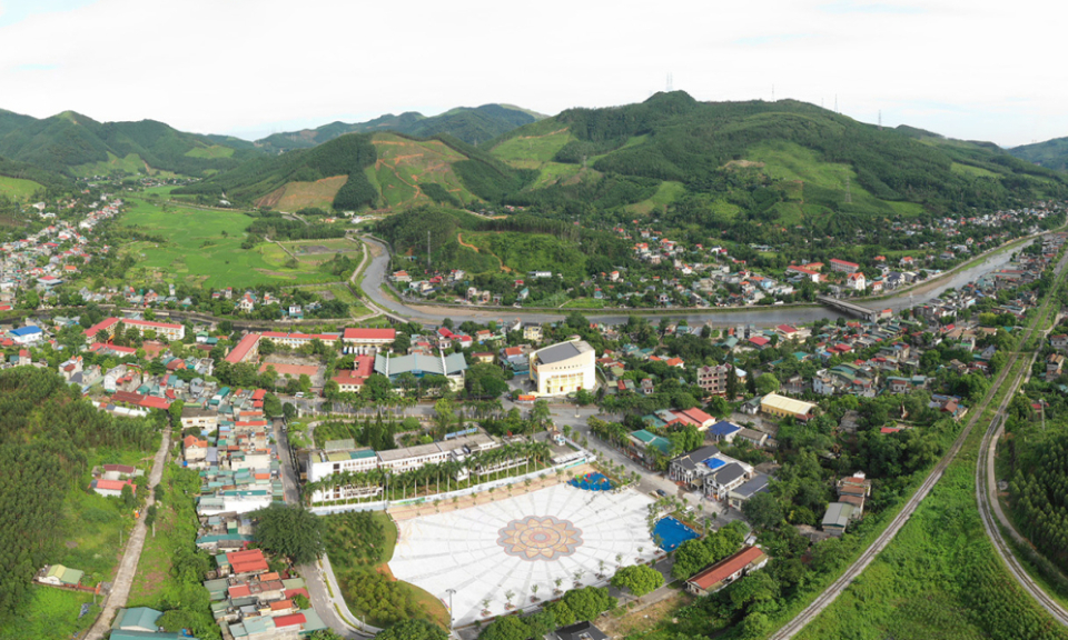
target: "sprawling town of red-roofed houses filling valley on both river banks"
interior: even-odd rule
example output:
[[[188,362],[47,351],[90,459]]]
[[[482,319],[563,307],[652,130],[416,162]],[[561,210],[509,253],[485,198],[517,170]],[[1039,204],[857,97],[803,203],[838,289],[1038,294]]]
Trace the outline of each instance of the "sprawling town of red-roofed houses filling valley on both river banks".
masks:
[[[4,328],[2,367],[52,369],[99,411],[120,419],[167,416],[180,443],[169,463],[195,470],[200,479],[196,547],[211,558],[204,589],[224,638],[235,640],[288,640],[327,628],[324,602],[308,591],[312,577],[293,567],[275,569],[255,544],[254,514],[288,499],[287,463],[304,482],[299,503],[330,513],[352,506],[389,509],[392,502],[434,501],[425,479],[419,489],[427,469],[446,470],[448,483],[477,491],[482,483],[527,477],[532,464],[564,470],[603,459],[607,451],[632,463],[640,470],[635,474],[678,487],[678,496],[703,512],[744,521],[746,503],[769,494],[777,481],[782,466],[777,451],[798,424],[833,417],[839,444],[825,452],[833,468],[840,450],[859,437],[859,424],[873,427],[864,438],[919,438],[911,432],[923,430],[904,403],[882,414],[880,423],[867,424],[857,411],[860,402],[909,396],[921,399],[921,411],[936,420],[958,422],[967,416],[976,399],[973,378],[988,379],[997,370],[999,357],[1003,359],[1001,337],[1038,304],[1035,286],[1068,238],[1045,234],[1003,267],[902,312],[887,310],[877,320],[758,327],[665,318],[653,327],[640,318],[610,324],[581,314],[558,322],[510,320],[503,311],[498,321],[461,326],[354,327],[343,321],[308,326],[308,332],[298,327],[235,330],[224,320],[171,316],[196,310],[174,286],[161,292],[82,287],[77,296],[86,311],[52,312],[52,307],[67,307],[61,297],[73,293],[65,282],[109,252],[95,244],[93,229],[122,206],[103,198],[77,223],[56,220],[38,207],[48,226],[0,247],[0,310],[23,311]],[[1000,244],[1007,240],[998,231],[1005,221],[1037,232],[1027,224],[1046,212],[947,218],[933,229],[902,226],[903,234],[943,239],[937,247],[920,247],[927,254],[921,263],[909,256],[877,256],[864,266],[831,258],[779,272],[750,268],[720,247],[688,249],[657,232],[619,228],[617,233],[635,241],[641,261],[671,263],[675,277],[650,282],[613,271],[583,287],[627,304],[647,291],[665,307],[778,302],[808,283],[835,296],[880,293],[936,278]],[[526,298],[527,282],[553,277],[532,272],[516,280],[516,299]],[[404,271],[392,277],[423,297],[464,280],[461,271],[425,280]],[[278,304],[284,317],[304,318],[306,308],[277,296],[225,289],[210,298],[231,300],[245,312]],[[503,298],[468,289],[464,300],[500,304]],[[1054,380],[1064,372],[1068,338],[1056,334],[1049,342],[1057,353],[1045,367]],[[492,387],[483,382],[486,377],[504,381],[506,390],[493,398],[473,392],[475,382],[477,389]],[[435,411],[443,399],[454,402],[457,412],[465,402],[490,400],[498,414],[514,409],[528,423],[542,412],[534,431],[544,446],[528,446],[521,433],[485,428],[479,420],[447,418],[444,423],[455,430],[442,430]],[[584,406],[600,406],[601,414],[562,424],[565,414]],[[842,412],[842,407],[850,409]],[[383,413],[394,426],[412,419],[406,429],[415,429],[416,443],[402,446],[400,434],[392,431],[377,444],[301,432],[330,420],[380,421]],[[120,500],[125,488],[136,492],[134,479],[148,471],[106,466],[87,490]],[[798,530],[812,544],[847,534],[864,517],[871,492],[866,470],[842,470],[833,499]],[[701,568],[686,589],[711,593],[763,568],[769,552],[752,542]],[[42,568],[37,581],[96,588],[85,583],[77,567]],[[148,608],[123,609],[110,638],[189,637],[158,631],[160,616]]]

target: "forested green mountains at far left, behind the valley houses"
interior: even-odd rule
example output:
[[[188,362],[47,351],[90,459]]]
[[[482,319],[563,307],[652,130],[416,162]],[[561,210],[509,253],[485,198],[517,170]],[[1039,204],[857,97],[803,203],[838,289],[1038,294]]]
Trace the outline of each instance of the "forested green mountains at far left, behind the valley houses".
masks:
[[[0,111],[0,156],[67,176],[204,176],[258,154],[244,140],[185,133],[155,120],[101,123],[73,111],[43,119]]]

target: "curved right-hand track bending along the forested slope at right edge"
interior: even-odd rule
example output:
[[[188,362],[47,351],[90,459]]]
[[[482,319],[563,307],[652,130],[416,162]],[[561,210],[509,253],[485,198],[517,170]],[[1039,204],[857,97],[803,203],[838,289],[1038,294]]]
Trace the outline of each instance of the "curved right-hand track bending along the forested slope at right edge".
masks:
[[[1068,262],[1068,252],[1065,253],[1065,257],[1061,258],[1060,263],[1057,266],[1058,274],[1062,272],[1066,262]],[[1044,311],[1048,304],[1049,301],[1044,306]],[[1056,326],[1056,317],[1054,326]],[[1049,333],[1049,330],[1045,329],[1042,332],[1045,336]],[[995,473],[995,457],[997,453],[997,442],[1005,432],[1005,412],[1021,381],[1030,373],[1031,364],[1035,362],[1037,356],[1037,352],[1031,353],[1027,360],[1027,366],[1020,369],[1019,376],[1012,383],[1011,392],[1005,394],[1001,406],[998,407],[998,412],[990,421],[990,427],[982,437],[982,444],[979,447],[979,460],[976,464],[976,499],[979,501],[979,513],[982,517],[982,527],[986,529],[987,536],[993,543],[995,549],[997,549],[998,556],[1001,557],[1001,560],[1005,561],[1006,567],[1008,567],[1009,572],[1012,573],[1012,577],[1016,578],[1016,581],[1020,583],[1020,587],[1022,587],[1025,591],[1030,593],[1044,609],[1049,611],[1050,616],[1061,624],[1068,626],[1068,610],[1055,599],[1050,598],[1046,591],[1035,582],[1020,564],[1015,551],[1005,540],[1002,529],[1008,531],[1017,542],[1030,546],[1030,541],[1021,536],[1005,516],[1005,511],[1001,509],[1001,502],[997,498],[998,489],[997,476]]]

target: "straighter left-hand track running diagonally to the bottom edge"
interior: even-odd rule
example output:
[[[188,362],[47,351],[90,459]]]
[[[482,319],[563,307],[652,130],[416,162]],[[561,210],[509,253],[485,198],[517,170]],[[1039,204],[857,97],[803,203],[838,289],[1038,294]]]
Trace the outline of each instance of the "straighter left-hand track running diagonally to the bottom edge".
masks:
[[[1060,273],[1060,271],[1064,269],[1066,260],[1068,260],[1068,254],[1066,254],[1066,257],[1061,259],[1060,263],[1057,264],[1057,273]],[[1052,294],[1047,294],[1046,301],[1042,306],[1042,312],[1045,312],[1051,299]],[[1032,328],[1028,328],[1027,333],[1025,333],[1020,339],[1019,343],[1021,346],[1027,342],[1028,338],[1031,336],[1031,332]],[[886,531],[883,531],[874,540],[874,542],[872,542],[871,546],[864,550],[860,558],[857,559],[857,561],[853,562],[849,569],[847,569],[846,572],[839,577],[838,580],[831,583],[830,587],[828,587],[820,596],[818,596],[811,604],[805,607],[804,610],[801,611],[793,620],[788,622],[785,626],[779,629],[779,631],[771,636],[771,640],[787,640],[788,638],[793,638],[793,636],[800,632],[805,624],[819,616],[823,609],[829,607],[831,602],[833,602],[839,594],[841,594],[841,592],[844,591],[846,588],[849,587],[858,576],[860,576],[868,564],[876,559],[876,556],[878,556],[879,552],[882,551],[891,540],[893,540],[893,537],[897,536],[898,531],[900,531],[901,528],[904,527],[904,524],[909,521],[909,518],[912,517],[912,513],[920,506],[920,502],[927,498],[934,484],[938,483],[939,479],[941,479],[942,473],[945,473],[950,462],[952,462],[960,452],[965,444],[965,440],[968,438],[968,434],[971,433],[972,428],[979,421],[979,418],[986,411],[987,407],[990,404],[990,401],[993,400],[995,394],[997,394],[997,392],[1001,389],[1001,386],[1006,383],[1009,371],[1012,369],[1018,358],[1019,352],[1013,352],[1010,356],[1008,362],[1001,369],[1001,372],[998,373],[993,384],[990,386],[990,390],[987,391],[986,397],[983,397],[982,402],[969,411],[969,416],[971,417],[969,418],[968,423],[961,430],[960,434],[957,437],[957,440],[953,441],[953,446],[950,448],[949,452],[942,457],[938,464],[934,466],[934,469],[931,470],[930,474],[927,477],[917,492],[913,493],[909,501],[904,504],[904,508],[901,509],[901,511],[890,522],[890,526],[887,527]],[[1012,381],[1013,387],[1011,387],[1011,391],[1006,394],[1006,402],[1008,401],[1008,398],[1016,392],[1016,386],[1019,384],[1020,379],[1021,378],[1018,377]],[[1019,577],[1017,579],[1019,579]]]

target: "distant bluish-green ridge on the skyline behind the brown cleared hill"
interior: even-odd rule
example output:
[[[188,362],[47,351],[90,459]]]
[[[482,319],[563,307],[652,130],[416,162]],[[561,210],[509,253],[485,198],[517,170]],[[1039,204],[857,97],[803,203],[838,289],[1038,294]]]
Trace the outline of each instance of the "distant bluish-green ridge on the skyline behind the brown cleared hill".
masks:
[[[415,111],[407,111],[399,116],[387,113],[367,122],[332,122],[316,129],[275,133],[257,140],[256,144],[271,152],[290,151],[308,149],[345,133],[376,131],[394,131],[421,138],[448,134],[468,144],[477,144],[507,133],[516,127],[534,122],[538,118],[543,117],[507,104],[483,104],[473,109],[459,107],[429,118]]]

